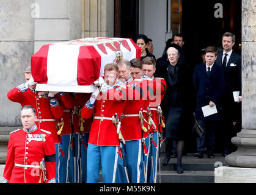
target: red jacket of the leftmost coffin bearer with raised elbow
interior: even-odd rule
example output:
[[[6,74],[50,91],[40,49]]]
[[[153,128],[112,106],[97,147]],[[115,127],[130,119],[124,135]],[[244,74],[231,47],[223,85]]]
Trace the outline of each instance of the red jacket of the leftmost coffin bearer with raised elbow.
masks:
[[[44,91],[31,91],[25,83],[13,88],[7,94],[10,101],[18,102],[23,107],[24,105],[32,105],[37,112],[37,119],[35,122],[39,129],[49,130],[53,136],[54,143],[58,143],[56,121],[41,121],[42,119],[56,119],[63,115],[63,107],[56,102],[56,99],[50,101]]]

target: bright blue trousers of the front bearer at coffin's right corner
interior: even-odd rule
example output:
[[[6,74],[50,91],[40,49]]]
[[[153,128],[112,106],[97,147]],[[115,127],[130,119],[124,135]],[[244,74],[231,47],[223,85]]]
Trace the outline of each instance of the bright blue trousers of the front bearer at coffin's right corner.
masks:
[[[125,183],[123,161],[119,156],[119,146],[97,146],[88,144],[87,183],[98,183],[100,165],[103,183]]]

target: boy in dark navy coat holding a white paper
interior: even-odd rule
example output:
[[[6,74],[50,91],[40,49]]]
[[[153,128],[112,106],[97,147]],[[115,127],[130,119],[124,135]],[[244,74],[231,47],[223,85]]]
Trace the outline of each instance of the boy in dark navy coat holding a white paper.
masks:
[[[196,66],[194,71],[194,85],[197,93],[196,118],[203,128],[202,137],[197,138],[197,152],[195,157],[202,158],[205,149],[208,158],[214,158],[215,129],[219,121],[219,100],[224,92],[224,71],[216,65],[217,49],[210,46],[205,49],[205,63]],[[217,113],[204,116],[202,107],[209,105],[216,106]]]

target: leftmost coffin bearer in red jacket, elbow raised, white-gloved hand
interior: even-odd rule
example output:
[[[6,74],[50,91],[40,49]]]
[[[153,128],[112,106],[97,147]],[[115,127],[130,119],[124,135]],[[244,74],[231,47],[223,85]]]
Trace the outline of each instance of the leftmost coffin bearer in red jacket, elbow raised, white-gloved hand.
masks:
[[[54,98],[53,93],[45,91],[35,91],[36,82],[31,75],[31,66],[27,66],[24,71],[26,83],[18,85],[7,94],[10,101],[18,102],[23,107],[24,105],[32,105],[36,110],[37,120],[35,124],[39,129],[45,129],[51,132],[53,142],[56,147],[56,158],[59,157],[56,119],[62,118],[63,107]]]

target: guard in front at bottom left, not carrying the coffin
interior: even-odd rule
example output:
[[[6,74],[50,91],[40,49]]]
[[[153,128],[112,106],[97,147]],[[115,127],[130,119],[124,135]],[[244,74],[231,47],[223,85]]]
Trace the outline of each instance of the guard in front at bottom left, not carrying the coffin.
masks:
[[[10,133],[4,182],[55,183],[56,156],[51,132],[38,129],[35,108],[21,108],[23,129]]]

